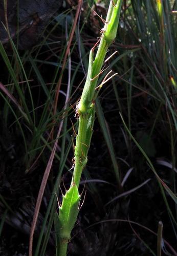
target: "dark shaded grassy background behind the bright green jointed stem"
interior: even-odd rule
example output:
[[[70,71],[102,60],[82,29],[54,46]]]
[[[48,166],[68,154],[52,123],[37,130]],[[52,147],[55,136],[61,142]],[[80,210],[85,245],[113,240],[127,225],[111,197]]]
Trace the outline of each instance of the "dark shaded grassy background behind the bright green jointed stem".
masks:
[[[161,250],[176,255],[177,1],[163,0],[162,15],[157,3],[123,2],[118,36],[107,56],[118,53],[106,63],[118,75],[103,86],[96,102],[80,185],[86,196],[69,255],[161,255]],[[61,202],[59,180],[64,191],[71,180],[72,122],[77,131],[74,109],[83,70],[103,27],[95,12],[105,17],[107,5],[83,2],[63,69],[77,1],[8,1],[5,8],[0,1],[0,255],[28,255],[39,187],[64,120],[33,248],[34,255],[55,254],[52,223],[56,195]]]

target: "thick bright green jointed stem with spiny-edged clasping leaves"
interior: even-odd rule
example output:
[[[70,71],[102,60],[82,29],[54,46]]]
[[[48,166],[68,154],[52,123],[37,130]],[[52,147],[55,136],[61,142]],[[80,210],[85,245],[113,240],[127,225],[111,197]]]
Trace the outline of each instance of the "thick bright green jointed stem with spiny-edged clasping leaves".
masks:
[[[96,46],[91,49],[87,78],[81,99],[76,106],[77,116],[79,117],[79,128],[78,135],[76,135],[74,151],[74,172],[70,189],[67,190],[63,196],[59,210],[59,217],[57,215],[55,218],[57,256],[67,255],[67,245],[71,238],[71,231],[79,212],[80,195],[78,193],[78,187],[82,170],[87,163],[87,153],[89,151],[93,134],[93,125],[95,120],[94,100],[97,96],[95,89],[107,49],[114,41],[117,34],[122,2],[123,0],[116,0],[113,4],[113,1],[110,0],[98,51],[95,60],[93,61],[94,49]]]

